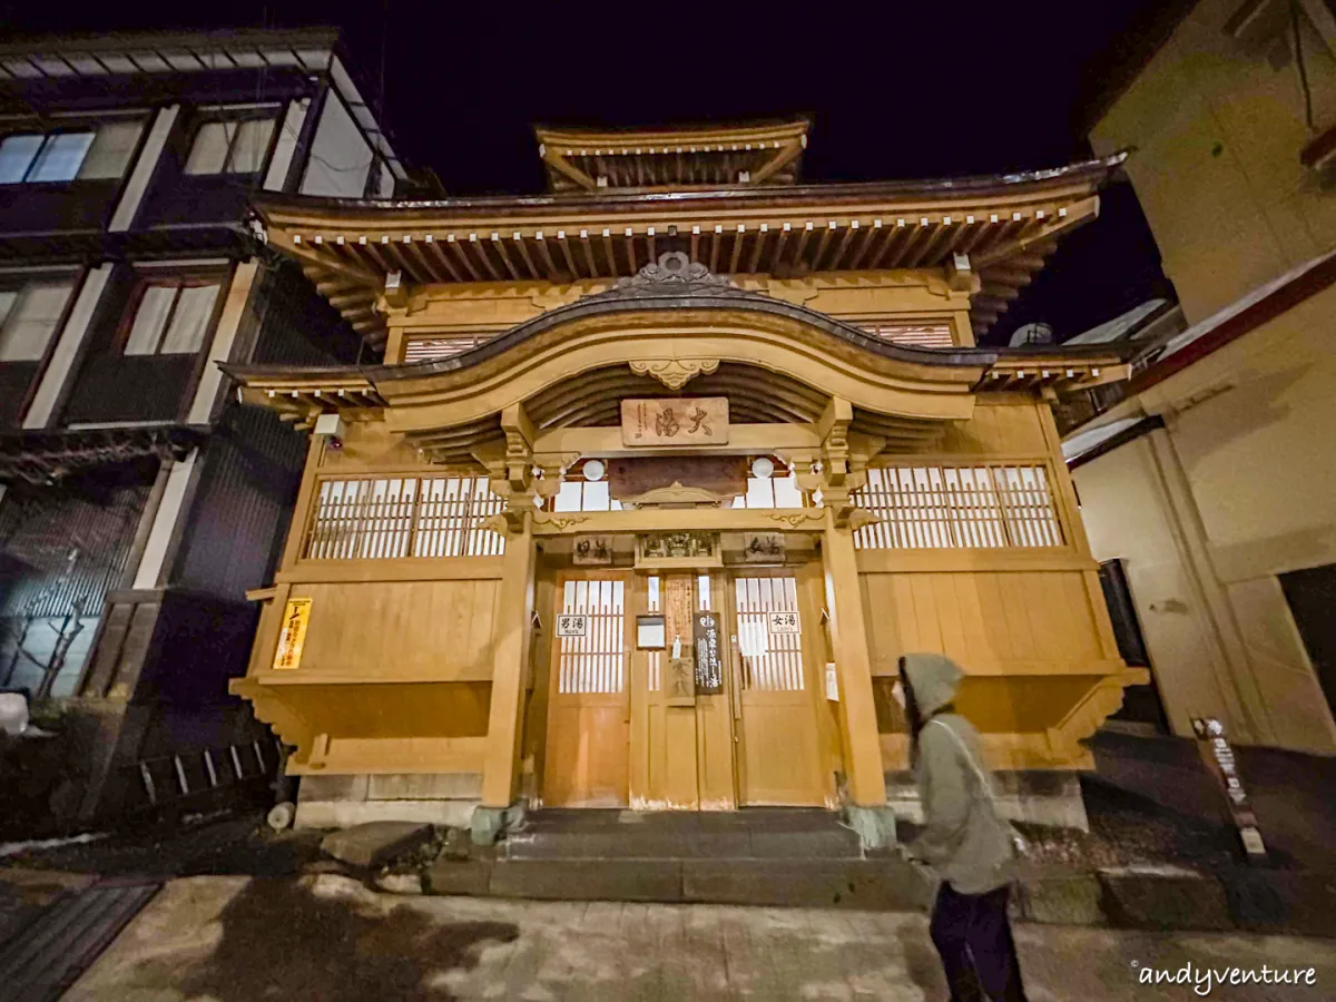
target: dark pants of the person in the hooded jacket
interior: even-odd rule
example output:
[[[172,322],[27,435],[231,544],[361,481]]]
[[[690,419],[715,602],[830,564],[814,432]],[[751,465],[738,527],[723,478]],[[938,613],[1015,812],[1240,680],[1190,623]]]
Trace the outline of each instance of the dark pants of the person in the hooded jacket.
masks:
[[[942,955],[951,1002],[1026,1002],[1006,916],[1009,887],[961,894],[942,883],[929,933]]]

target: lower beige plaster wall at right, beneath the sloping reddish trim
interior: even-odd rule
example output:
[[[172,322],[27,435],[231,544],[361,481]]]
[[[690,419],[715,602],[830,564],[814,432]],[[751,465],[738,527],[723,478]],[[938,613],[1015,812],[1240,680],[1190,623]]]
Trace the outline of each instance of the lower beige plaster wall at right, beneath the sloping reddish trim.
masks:
[[[1166,429],[1074,472],[1094,556],[1122,557],[1173,727],[1333,751],[1276,574],[1336,562],[1336,289],[1141,395]]]

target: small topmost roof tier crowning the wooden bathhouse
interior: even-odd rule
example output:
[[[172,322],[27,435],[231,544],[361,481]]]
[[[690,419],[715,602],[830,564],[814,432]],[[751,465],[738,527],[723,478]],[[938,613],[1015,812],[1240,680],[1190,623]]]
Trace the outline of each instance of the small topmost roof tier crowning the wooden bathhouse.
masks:
[[[671,130],[540,126],[534,134],[552,191],[794,184],[807,148],[804,120]]]

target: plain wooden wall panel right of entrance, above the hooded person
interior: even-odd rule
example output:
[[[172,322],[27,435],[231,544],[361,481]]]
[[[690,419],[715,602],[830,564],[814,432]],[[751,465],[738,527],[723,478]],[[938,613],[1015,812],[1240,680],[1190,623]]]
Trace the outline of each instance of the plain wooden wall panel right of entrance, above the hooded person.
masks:
[[[1109,668],[1089,576],[1081,570],[864,573],[872,672],[908,652],[941,652],[969,672],[1042,675]]]

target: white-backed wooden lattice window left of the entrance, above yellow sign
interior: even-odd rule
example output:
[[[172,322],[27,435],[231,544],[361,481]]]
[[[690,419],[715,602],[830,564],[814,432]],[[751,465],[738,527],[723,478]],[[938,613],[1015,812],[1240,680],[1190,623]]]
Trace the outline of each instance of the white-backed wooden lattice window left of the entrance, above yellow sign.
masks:
[[[321,482],[306,560],[493,557],[505,538],[482,522],[505,508],[486,477],[389,477]]]

